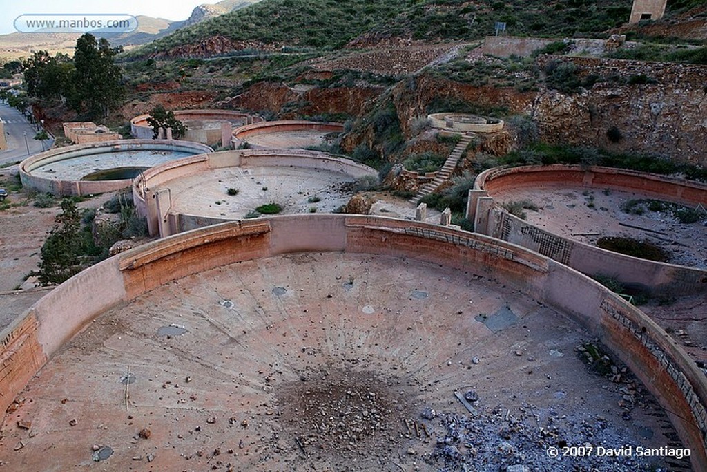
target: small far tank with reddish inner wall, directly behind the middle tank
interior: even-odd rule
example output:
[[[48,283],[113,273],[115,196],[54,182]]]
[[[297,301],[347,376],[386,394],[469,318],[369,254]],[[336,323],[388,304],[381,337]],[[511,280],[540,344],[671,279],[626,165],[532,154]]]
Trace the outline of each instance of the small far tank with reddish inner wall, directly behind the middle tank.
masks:
[[[327,141],[327,134],[344,131],[341,123],[282,120],[247,125],[233,130],[233,147],[303,149]]]

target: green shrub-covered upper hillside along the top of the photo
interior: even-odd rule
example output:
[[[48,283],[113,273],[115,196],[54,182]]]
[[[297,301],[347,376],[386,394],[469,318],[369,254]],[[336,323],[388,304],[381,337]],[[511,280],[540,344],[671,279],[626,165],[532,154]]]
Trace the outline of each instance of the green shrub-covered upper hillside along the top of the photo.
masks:
[[[506,23],[510,35],[596,36],[624,24],[630,12],[631,0],[263,0],[182,28],[131,56],[206,57],[204,48],[190,47],[201,42],[217,42],[216,55],[253,43],[335,50],[393,37],[476,40],[493,34],[496,21]]]

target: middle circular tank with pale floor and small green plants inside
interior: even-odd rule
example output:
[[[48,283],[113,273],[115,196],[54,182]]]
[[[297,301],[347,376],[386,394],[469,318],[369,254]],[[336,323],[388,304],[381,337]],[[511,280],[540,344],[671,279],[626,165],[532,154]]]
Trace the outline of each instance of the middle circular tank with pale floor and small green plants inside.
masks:
[[[240,149],[152,168],[134,181],[133,195],[150,233],[168,236],[259,217],[255,209],[269,203],[279,205],[280,214],[332,213],[356,194],[364,177],[378,179],[378,173],[318,151]]]

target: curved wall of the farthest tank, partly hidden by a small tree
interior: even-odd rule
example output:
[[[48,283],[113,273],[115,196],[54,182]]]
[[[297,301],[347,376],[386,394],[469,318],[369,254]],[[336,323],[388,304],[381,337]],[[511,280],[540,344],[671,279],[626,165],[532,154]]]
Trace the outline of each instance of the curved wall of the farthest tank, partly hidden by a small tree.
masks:
[[[175,110],[177,120],[188,122],[190,120],[203,120],[212,122],[240,122],[245,125],[262,122],[262,117],[250,115],[235,110]],[[130,133],[139,139],[152,139],[153,131],[148,125],[149,113],[139,115],[130,120]],[[231,127],[233,130],[233,126]],[[189,129],[183,137],[186,141],[200,142],[201,144],[215,144],[221,142],[221,129]]]

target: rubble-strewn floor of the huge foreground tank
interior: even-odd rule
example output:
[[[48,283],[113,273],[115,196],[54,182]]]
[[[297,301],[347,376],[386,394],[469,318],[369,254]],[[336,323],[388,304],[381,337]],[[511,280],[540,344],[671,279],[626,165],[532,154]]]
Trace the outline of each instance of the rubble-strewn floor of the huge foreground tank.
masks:
[[[547,456],[679,447],[641,384],[590,371],[590,341],[565,313],[438,265],[247,261],[90,323],[21,393],[0,458],[26,471],[687,470]]]

